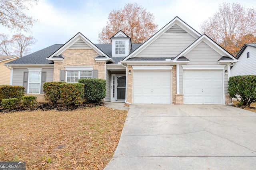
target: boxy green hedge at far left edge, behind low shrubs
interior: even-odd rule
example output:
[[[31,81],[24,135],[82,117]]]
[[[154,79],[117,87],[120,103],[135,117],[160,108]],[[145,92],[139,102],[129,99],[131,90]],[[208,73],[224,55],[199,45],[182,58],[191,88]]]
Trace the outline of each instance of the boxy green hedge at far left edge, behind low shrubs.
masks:
[[[2,99],[17,98],[19,101],[24,96],[24,87],[22,86],[0,86],[0,102]]]

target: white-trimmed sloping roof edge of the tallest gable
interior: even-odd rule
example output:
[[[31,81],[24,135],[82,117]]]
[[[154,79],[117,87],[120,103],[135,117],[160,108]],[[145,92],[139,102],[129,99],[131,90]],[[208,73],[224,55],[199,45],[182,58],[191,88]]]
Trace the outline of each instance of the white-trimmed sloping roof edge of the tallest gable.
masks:
[[[165,33],[166,31],[171,31],[169,29],[172,26],[174,26],[174,29],[175,29],[177,24],[180,27],[182,27],[183,30],[190,33],[190,35],[192,35],[196,39],[198,39],[201,36],[200,33],[198,33],[195,29],[190,27],[186,22],[184,22],[183,20],[181,20],[180,18],[178,18],[176,16],[172,21],[170,21],[162,29],[160,29],[157,33],[155,33],[152,37],[150,37],[147,41],[145,41],[138,49],[136,49],[133,53],[130,53],[130,55],[128,55],[123,61],[126,61],[129,58],[132,58],[135,55],[137,55],[138,53],[140,53],[142,50],[144,50],[146,47],[148,47],[148,45],[150,45],[152,42],[154,42],[156,39],[158,39],[158,37],[160,37],[163,33]],[[181,30],[178,30],[178,31],[181,31]]]

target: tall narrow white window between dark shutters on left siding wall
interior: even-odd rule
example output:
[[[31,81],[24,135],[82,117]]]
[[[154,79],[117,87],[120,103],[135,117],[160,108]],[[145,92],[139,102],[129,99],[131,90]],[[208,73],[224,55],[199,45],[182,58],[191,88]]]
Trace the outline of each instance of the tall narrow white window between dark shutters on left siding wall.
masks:
[[[41,72],[29,72],[28,93],[40,93]]]

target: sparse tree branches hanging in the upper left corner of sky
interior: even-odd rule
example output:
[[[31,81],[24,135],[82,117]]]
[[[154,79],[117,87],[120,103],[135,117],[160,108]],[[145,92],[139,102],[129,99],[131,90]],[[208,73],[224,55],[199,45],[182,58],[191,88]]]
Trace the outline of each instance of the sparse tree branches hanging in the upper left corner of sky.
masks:
[[[38,0],[0,0],[0,24],[8,29],[30,31],[36,20],[24,13]]]

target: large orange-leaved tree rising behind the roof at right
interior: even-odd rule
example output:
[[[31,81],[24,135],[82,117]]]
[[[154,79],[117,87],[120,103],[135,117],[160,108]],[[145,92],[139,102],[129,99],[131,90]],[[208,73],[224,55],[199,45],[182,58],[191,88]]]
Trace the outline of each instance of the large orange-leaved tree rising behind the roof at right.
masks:
[[[236,56],[245,43],[256,42],[256,9],[223,3],[213,17],[200,25],[221,47]]]

